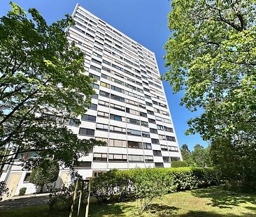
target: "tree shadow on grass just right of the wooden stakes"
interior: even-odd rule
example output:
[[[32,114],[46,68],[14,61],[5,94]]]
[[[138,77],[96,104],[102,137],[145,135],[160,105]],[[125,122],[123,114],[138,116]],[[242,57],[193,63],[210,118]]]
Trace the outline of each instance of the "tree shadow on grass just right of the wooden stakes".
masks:
[[[90,215],[93,217],[97,216],[125,216],[125,213],[132,211],[134,206],[129,204],[120,203],[120,204],[90,204]]]

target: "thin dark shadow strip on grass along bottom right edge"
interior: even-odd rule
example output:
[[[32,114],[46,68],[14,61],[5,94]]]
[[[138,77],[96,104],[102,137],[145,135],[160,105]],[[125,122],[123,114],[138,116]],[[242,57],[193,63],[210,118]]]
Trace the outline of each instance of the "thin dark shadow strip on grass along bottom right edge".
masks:
[[[248,217],[253,217],[255,214],[246,214]],[[187,214],[181,214],[179,217],[241,217],[235,214],[216,214],[212,211],[189,211]]]

